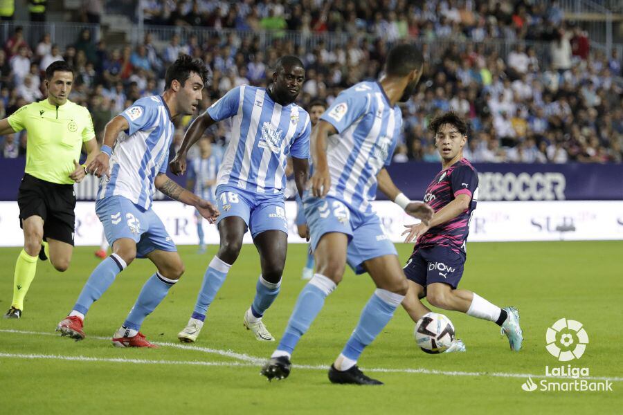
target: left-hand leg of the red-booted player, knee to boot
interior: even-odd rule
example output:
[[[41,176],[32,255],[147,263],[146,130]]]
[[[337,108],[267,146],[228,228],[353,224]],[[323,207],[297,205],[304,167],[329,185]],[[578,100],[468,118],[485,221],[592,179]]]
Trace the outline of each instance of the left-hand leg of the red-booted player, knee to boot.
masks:
[[[116,241],[115,247],[117,248],[116,252],[131,252],[130,254],[126,253],[126,255],[124,255],[126,258],[129,255],[131,258],[129,262],[134,259],[136,247],[132,239],[119,239]],[[87,315],[89,308],[91,308],[93,302],[96,302],[102,297],[114,282],[118,273],[123,271],[126,266],[126,261],[121,255],[118,255],[118,253],[113,253],[107,259],[100,262],[93,270],[93,273],[91,273],[89,279],[87,279],[87,284],[84,284],[82,292],[80,292],[78,296],[78,301],[75,302],[71,313],[57,324],[56,331],[60,331],[62,336],[68,336],[75,340],[84,339],[84,331],[82,328],[84,326],[84,317]]]

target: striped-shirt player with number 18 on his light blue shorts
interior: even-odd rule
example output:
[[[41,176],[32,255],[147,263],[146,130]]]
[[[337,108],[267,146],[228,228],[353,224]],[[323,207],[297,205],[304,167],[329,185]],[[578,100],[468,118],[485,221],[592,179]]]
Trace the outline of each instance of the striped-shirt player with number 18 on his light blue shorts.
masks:
[[[188,128],[171,163],[172,172],[183,172],[190,146],[210,125],[231,118],[231,141],[217,178],[221,246],[206,270],[195,311],[178,334],[183,342],[197,340],[208,306],[237,259],[247,230],[251,230],[260,252],[262,275],[243,322],[258,340],[274,340],[262,316],[279,293],[285,266],[288,227],[283,191],[287,157],[293,160],[299,194],[303,194],[309,167],[309,115],[294,103],[304,80],[300,59],[281,57],[267,89],[238,86],[199,116]]]

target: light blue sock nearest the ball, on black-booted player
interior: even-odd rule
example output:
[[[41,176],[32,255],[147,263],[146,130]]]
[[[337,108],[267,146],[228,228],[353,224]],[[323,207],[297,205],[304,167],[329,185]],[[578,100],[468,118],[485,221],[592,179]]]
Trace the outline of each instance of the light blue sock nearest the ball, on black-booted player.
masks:
[[[363,349],[372,343],[372,340],[392,320],[396,308],[403,299],[404,295],[377,288],[368,300],[368,304],[365,304],[365,307],[363,307],[359,323],[352,332],[350,339],[348,339],[342,355],[356,362],[359,356],[361,356]]]

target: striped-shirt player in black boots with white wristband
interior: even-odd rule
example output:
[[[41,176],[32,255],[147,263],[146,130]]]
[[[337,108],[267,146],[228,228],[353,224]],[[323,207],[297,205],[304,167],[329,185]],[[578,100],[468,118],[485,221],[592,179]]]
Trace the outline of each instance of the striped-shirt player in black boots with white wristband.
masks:
[[[401,128],[397,102],[408,100],[422,74],[422,55],[408,44],[388,54],[379,82],[360,82],[343,91],[314,127],[313,193],[303,199],[316,259],[316,275],[298,296],[288,326],[269,362],[267,378],[286,378],[291,353],[341,281],[347,262],[356,273],[370,273],[377,290],[363,308],[359,324],[329,369],[334,383],[379,385],[356,366],[363,349],[377,337],[401,304],[407,282],[396,249],[383,233],[370,202],[377,190],[408,214],[431,219],[433,210],[410,202],[392,183],[390,164]],[[329,137],[330,136],[330,137]]]

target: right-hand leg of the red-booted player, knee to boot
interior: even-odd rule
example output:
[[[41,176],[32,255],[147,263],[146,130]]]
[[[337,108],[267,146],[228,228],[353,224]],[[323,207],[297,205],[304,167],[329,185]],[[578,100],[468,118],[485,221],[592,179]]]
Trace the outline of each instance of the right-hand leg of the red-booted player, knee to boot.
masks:
[[[112,342],[116,347],[157,347],[148,342],[139,330],[145,317],[162,302],[184,272],[177,252],[153,250],[147,254],[147,258],[156,265],[158,271],[147,279],[125,322],[115,332]]]

